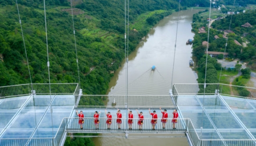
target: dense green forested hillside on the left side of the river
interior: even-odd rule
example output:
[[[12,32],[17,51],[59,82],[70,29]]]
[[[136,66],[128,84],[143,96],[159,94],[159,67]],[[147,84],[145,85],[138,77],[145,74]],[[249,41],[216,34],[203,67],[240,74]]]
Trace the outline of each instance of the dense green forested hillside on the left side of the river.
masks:
[[[124,1],[73,0],[76,43],[84,94],[105,94],[111,75],[124,58]],[[46,83],[46,32],[42,0],[18,0],[33,83]],[[46,0],[51,82],[78,82],[73,22],[67,0]],[[146,26],[129,33],[129,50],[178,3],[173,0],[130,2],[130,24],[140,14],[151,14]],[[80,8],[80,9],[77,9]],[[14,0],[0,1],[0,86],[29,83],[18,11]],[[139,21],[139,20],[137,20]],[[134,25],[136,26],[136,25]],[[131,28],[136,29],[136,28]]]

